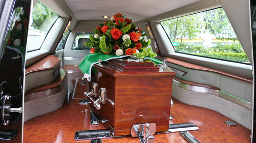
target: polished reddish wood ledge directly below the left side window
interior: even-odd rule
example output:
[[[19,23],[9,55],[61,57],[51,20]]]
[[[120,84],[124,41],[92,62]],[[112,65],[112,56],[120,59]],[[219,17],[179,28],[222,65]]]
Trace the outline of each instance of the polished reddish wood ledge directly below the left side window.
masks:
[[[55,57],[54,55],[48,55],[44,59],[41,59],[40,61],[36,62],[32,66],[26,68],[26,74],[37,72],[37,71],[54,69],[55,67],[60,66],[60,61],[61,60]]]

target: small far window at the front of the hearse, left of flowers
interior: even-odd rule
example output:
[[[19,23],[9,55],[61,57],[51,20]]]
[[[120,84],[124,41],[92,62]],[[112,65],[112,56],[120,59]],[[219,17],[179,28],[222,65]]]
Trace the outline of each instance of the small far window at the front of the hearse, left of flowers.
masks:
[[[72,50],[90,50],[90,47],[84,45],[89,42],[89,36],[94,35],[93,33],[78,32],[72,47]]]

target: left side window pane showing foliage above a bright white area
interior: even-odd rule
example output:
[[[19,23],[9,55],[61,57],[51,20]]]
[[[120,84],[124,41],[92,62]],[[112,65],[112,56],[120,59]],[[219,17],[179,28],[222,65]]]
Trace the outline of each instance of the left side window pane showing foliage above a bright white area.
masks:
[[[52,25],[59,16],[39,1],[32,11],[27,51],[40,49]]]

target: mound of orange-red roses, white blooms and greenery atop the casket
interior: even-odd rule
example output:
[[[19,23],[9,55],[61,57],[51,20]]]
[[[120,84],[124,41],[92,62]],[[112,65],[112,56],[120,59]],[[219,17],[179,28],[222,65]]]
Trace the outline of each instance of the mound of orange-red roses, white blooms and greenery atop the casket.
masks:
[[[86,46],[91,47],[92,53],[134,55],[138,59],[157,56],[152,52],[151,47],[147,48],[151,40],[145,40],[146,33],[123,14],[117,13],[111,17],[111,20],[105,20],[95,28],[94,34],[94,36],[90,35],[89,42],[85,43]]]

